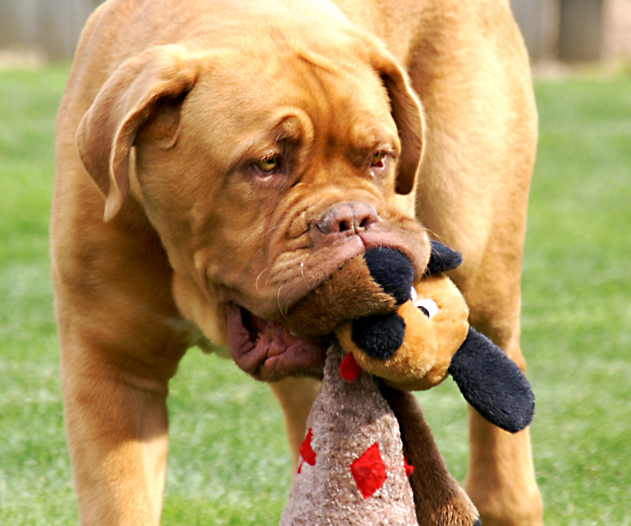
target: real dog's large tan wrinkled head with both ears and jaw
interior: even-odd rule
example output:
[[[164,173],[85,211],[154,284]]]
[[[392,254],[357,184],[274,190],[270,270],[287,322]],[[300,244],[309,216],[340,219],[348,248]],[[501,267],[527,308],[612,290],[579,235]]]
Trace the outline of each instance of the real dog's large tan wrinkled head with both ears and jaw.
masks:
[[[420,104],[379,43],[323,28],[149,48],[111,74],[77,133],[104,220],[142,205],[179,308],[262,379],[319,370],[320,346],[283,319],[344,262],[388,246],[420,278],[429,255],[414,221]]]

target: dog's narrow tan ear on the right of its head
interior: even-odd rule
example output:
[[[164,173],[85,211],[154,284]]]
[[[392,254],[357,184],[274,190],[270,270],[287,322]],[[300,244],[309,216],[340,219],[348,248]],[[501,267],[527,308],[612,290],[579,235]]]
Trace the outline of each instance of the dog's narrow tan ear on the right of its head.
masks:
[[[386,50],[375,47],[372,65],[390,96],[391,112],[401,141],[395,190],[407,195],[414,189],[416,172],[423,156],[423,110],[407,74]]]

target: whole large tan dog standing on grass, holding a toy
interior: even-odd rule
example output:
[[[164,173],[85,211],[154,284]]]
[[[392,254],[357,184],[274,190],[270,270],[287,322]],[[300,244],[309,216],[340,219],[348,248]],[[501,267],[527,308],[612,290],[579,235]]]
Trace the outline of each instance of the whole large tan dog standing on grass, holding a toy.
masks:
[[[51,226],[82,523],[158,523],[167,386],[191,345],[286,377],[295,452],[317,382],[291,375],[317,377],[323,353],[283,314],[367,247],[419,274],[426,229],[463,252],[474,325],[523,367],[535,143],[508,0],[101,6],[57,119]],[[470,443],[484,524],[539,524],[527,431],[471,412]]]

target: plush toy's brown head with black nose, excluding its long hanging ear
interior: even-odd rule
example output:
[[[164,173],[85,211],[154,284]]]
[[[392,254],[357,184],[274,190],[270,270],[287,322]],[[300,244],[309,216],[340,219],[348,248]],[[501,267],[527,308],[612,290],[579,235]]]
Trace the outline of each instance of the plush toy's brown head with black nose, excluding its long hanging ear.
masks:
[[[287,326],[301,337],[334,332],[360,367],[386,384],[429,389],[447,376],[467,335],[466,303],[440,274],[459,261],[457,252],[434,243],[433,275],[413,288],[414,269],[402,252],[372,248],[302,299],[288,313]]]

